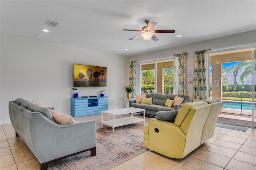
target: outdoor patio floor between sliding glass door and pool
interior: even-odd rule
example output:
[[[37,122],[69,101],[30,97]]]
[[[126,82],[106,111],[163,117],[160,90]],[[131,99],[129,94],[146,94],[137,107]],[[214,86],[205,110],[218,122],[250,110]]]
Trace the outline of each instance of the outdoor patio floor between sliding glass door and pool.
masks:
[[[254,111],[254,127],[256,127],[256,111]],[[252,127],[252,111],[223,108],[218,116],[218,122]]]

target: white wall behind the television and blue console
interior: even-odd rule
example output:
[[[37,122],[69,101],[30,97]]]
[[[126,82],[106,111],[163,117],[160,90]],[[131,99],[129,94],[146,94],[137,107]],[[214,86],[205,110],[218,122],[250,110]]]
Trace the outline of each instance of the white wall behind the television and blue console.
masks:
[[[74,63],[107,67],[106,87],[78,87],[78,95],[106,90],[109,109],[120,108],[122,87],[129,82],[125,57],[3,33],[0,38],[0,124],[10,123],[8,101],[20,97],[70,114]]]

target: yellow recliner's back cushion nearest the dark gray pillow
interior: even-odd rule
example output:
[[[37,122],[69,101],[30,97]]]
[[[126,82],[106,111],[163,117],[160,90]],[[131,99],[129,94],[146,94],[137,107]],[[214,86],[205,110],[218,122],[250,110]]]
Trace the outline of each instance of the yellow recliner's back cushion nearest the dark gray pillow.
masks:
[[[197,101],[197,102],[192,102],[192,103],[184,103],[182,107],[180,108],[178,115],[176,116],[176,119],[174,121],[174,124],[176,126],[180,126],[183,120],[185,119],[186,115],[190,111],[190,109],[202,105],[206,105],[207,103],[205,101]]]

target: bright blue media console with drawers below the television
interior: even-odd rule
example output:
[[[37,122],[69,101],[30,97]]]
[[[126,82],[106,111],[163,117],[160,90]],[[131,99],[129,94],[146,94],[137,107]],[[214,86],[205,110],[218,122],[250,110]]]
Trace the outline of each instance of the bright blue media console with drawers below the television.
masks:
[[[71,98],[71,116],[100,114],[108,110],[108,97]]]

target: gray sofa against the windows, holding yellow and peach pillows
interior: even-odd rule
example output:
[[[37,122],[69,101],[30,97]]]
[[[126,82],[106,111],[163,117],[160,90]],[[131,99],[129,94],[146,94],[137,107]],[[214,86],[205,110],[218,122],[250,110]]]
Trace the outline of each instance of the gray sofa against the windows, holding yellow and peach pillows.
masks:
[[[146,109],[145,114],[149,116],[156,116],[158,111],[172,111],[179,110],[181,105],[176,105],[175,107],[166,107],[164,106],[166,99],[173,100],[175,96],[182,97],[184,100],[182,103],[189,102],[189,96],[184,95],[164,95],[160,93],[146,93],[146,97],[153,97],[152,105],[136,103],[136,99],[130,100],[129,106],[136,107],[140,109]]]

